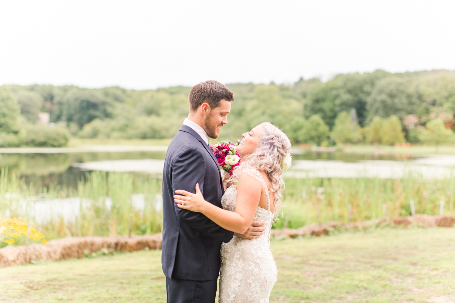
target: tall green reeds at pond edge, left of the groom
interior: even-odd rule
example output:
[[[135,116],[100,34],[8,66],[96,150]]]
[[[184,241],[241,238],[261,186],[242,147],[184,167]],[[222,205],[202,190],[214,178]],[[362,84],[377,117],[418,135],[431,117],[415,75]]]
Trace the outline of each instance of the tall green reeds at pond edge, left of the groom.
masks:
[[[28,219],[47,240],[125,235],[130,217],[133,234],[157,233],[162,229],[161,187],[161,179],[148,175],[94,171],[81,178],[76,189],[56,183],[36,189],[2,169],[0,218]]]

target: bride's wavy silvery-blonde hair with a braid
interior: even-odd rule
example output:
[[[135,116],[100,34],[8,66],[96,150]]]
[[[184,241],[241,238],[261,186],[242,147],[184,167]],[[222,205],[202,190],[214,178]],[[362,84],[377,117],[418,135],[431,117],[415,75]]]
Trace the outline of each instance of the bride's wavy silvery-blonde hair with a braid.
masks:
[[[275,219],[278,218],[278,209],[283,201],[281,194],[284,189],[282,164],[286,155],[291,149],[291,141],[286,134],[275,125],[264,122],[261,124],[264,128],[264,135],[259,139],[258,146],[253,154],[247,155],[242,159],[242,163],[234,169],[230,178],[234,182],[238,181],[240,173],[246,167],[252,167],[264,171],[271,183],[274,202]]]

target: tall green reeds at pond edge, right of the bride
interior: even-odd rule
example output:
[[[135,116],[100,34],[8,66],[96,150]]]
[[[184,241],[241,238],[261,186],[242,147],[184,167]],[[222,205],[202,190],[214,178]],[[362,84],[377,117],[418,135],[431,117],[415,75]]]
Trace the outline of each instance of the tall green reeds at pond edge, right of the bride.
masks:
[[[358,222],[416,214],[455,215],[455,175],[446,179],[286,179],[283,216],[275,222],[288,228],[329,221]],[[384,214],[385,210],[385,214]]]

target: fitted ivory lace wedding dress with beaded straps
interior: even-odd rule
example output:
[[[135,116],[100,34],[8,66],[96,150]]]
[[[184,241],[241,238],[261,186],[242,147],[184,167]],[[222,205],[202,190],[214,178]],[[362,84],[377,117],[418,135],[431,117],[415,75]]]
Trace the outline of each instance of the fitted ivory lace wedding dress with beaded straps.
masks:
[[[256,169],[247,167],[243,172],[264,186],[268,209],[258,206],[254,220],[265,222],[265,231],[257,239],[234,236],[229,243],[222,243],[219,303],[268,303],[278,275],[277,264],[270,249],[270,231],[273,223],[270,197],[267,184]],[[237,189],[231,186],[221,199],[223,209],[235,211],[236,201]]]

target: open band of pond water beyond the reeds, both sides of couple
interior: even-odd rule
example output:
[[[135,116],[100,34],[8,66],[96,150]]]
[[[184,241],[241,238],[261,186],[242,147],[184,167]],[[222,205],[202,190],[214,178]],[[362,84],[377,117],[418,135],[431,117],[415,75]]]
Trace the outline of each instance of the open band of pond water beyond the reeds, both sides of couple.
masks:
[[[154,149],[154,150],[150,150]],[[160,150],[161,149],[161,150]],[[77,180],[87,172],[136,172],[162,174],[165,147],[115,147],[98,146],[91,149],[21,149],[0,150],[0,167],[33,182],[37,187],[59,184],[76,188]],[[37,153],[37,151],[39,153]],[[51,152],[51,153],[46,153]],[[416,157],[409,154],[374,155],[348,154],[343,152],[308,151],[293,149],[293,166],[286,172],[288,177],[379,177],[399,178],[410,170],[429,178],[451,174],[455,166],[454,156]]]

